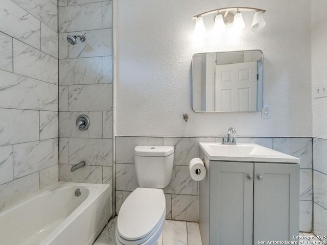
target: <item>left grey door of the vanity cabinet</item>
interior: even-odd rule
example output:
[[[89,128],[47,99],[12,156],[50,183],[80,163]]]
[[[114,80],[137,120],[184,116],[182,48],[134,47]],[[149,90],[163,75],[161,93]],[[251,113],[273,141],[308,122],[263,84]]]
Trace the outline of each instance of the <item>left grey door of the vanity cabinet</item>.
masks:
[[[211,161],[209,244],[252,244],[252,176],[251,162]]]

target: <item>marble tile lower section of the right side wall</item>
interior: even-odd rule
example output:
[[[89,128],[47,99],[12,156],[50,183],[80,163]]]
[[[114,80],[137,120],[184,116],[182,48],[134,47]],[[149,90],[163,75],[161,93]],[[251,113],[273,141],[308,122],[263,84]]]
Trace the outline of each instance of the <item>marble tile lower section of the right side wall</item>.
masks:
[[[327,234],[327,139],[313,139],[313,232]],[[327,241],[327,239],[322,239]]]

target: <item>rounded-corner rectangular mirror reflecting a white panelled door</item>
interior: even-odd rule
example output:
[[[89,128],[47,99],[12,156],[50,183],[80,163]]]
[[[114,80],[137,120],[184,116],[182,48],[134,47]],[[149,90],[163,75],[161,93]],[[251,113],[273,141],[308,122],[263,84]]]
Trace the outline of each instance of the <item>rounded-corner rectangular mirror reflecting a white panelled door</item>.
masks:
[[[255,112],[262,107],[263,53],[260,50],[193,55],[195,112]]]

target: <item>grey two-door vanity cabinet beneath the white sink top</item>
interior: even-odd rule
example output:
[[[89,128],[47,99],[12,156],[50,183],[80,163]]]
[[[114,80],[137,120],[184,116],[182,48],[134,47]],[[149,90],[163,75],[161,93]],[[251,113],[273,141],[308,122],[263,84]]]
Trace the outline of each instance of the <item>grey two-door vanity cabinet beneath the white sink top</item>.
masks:
[[[199,184],[203,245],[295,240],[299,232],[298,164],[201,157],[207,168]]]

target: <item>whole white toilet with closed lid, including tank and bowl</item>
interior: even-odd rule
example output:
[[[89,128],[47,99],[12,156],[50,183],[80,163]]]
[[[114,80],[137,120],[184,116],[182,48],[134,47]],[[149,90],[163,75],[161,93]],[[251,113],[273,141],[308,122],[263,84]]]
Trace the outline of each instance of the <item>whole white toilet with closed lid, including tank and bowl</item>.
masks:
[[[153,245],[166,217],[164,190],[173,172],[174,146],[138,145],[134,149],[136,188],[120,208],[116,224],[118,245]]]

